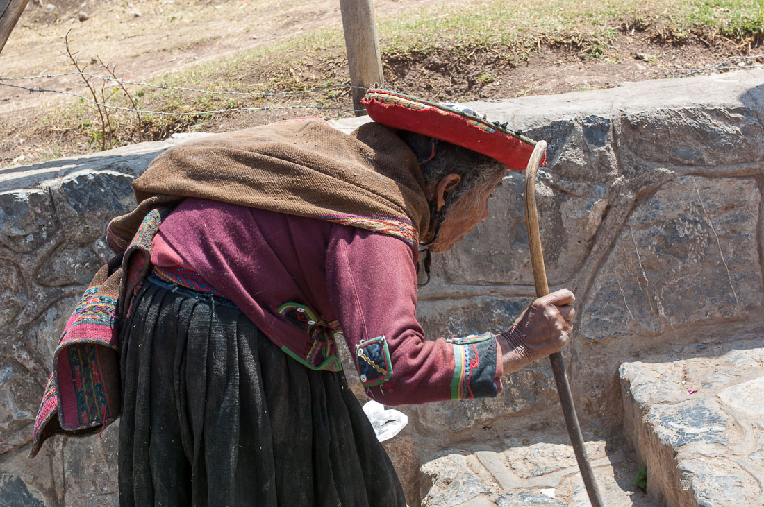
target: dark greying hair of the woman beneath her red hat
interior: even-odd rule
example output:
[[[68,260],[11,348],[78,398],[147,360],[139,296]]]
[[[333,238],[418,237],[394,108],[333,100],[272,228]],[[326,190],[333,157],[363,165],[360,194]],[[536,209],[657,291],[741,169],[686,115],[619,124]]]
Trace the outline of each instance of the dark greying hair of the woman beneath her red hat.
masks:
[[[426,188],[431,188],[452,173],[461,177],[459,184],[446,197],[445,206],[440,210],[442,217],[461,197],[471,193],[477,197],[474,191],[497,184],[507,169],[501,162],[482,153],[429,136],[407,130],[399,130],[398,136],[416,155]]]

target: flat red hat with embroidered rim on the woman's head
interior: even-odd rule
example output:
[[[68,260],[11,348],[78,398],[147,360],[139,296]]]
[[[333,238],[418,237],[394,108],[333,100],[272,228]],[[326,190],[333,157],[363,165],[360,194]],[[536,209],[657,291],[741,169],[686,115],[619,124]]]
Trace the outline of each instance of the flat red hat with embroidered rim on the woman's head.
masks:
[[[376,88],[369,89],[361,103],[378,124],[471,149],[497,159],[508,169],[516,171],[525,170],[536,146],[536,141],[491,123],[470,109],[452,104],[435,104],[397,91]]]

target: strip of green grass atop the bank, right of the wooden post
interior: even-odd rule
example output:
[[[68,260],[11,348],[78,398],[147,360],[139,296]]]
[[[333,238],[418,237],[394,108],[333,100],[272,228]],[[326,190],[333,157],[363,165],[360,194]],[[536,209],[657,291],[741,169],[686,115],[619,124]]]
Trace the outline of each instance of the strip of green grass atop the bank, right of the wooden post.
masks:
[[[760,32],[764,26],[759,0],[462,2],[423,8],[406,18],[380,20],[378,25],[384,52],[409,53],[453,46],[511,50],[537,40],[596,34],[639,18],[685,30],[708,28],[727,36]]]

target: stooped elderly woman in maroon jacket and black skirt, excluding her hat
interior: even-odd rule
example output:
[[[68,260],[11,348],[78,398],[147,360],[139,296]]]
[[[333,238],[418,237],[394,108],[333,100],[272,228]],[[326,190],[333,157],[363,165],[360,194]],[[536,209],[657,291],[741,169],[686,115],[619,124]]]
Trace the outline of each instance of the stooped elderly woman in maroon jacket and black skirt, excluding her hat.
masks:
[[[429,136],[317,119],[152,162],[138,209],[109,226],[151,245],[151,265],[125,260],[121,280],[121,505],[406,505],[338,354],[397,405],[496,396],[503,374],[568,341],[568,290],[500,335],[425,339],[416,321],[419,245],[451,249],[505,170]]]

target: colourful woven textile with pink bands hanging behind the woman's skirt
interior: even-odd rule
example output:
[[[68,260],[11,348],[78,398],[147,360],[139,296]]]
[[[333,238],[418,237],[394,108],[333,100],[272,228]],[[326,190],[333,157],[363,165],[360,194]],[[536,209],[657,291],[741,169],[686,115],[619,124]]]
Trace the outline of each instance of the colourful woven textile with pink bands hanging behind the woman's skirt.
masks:
[[[125,251],[122,267],[111,276],[108,266],[101,268],[80,298],[53,354],[53,373],[34,422],[31,457],[56,433],[87,435],[118,418],[118,315],[129,314],[120,307],[129,303],[129,294],[147,274],[151,239],[169,212],[164,208],[148,213]],[[121,280],[122,272],[130,276]]]

